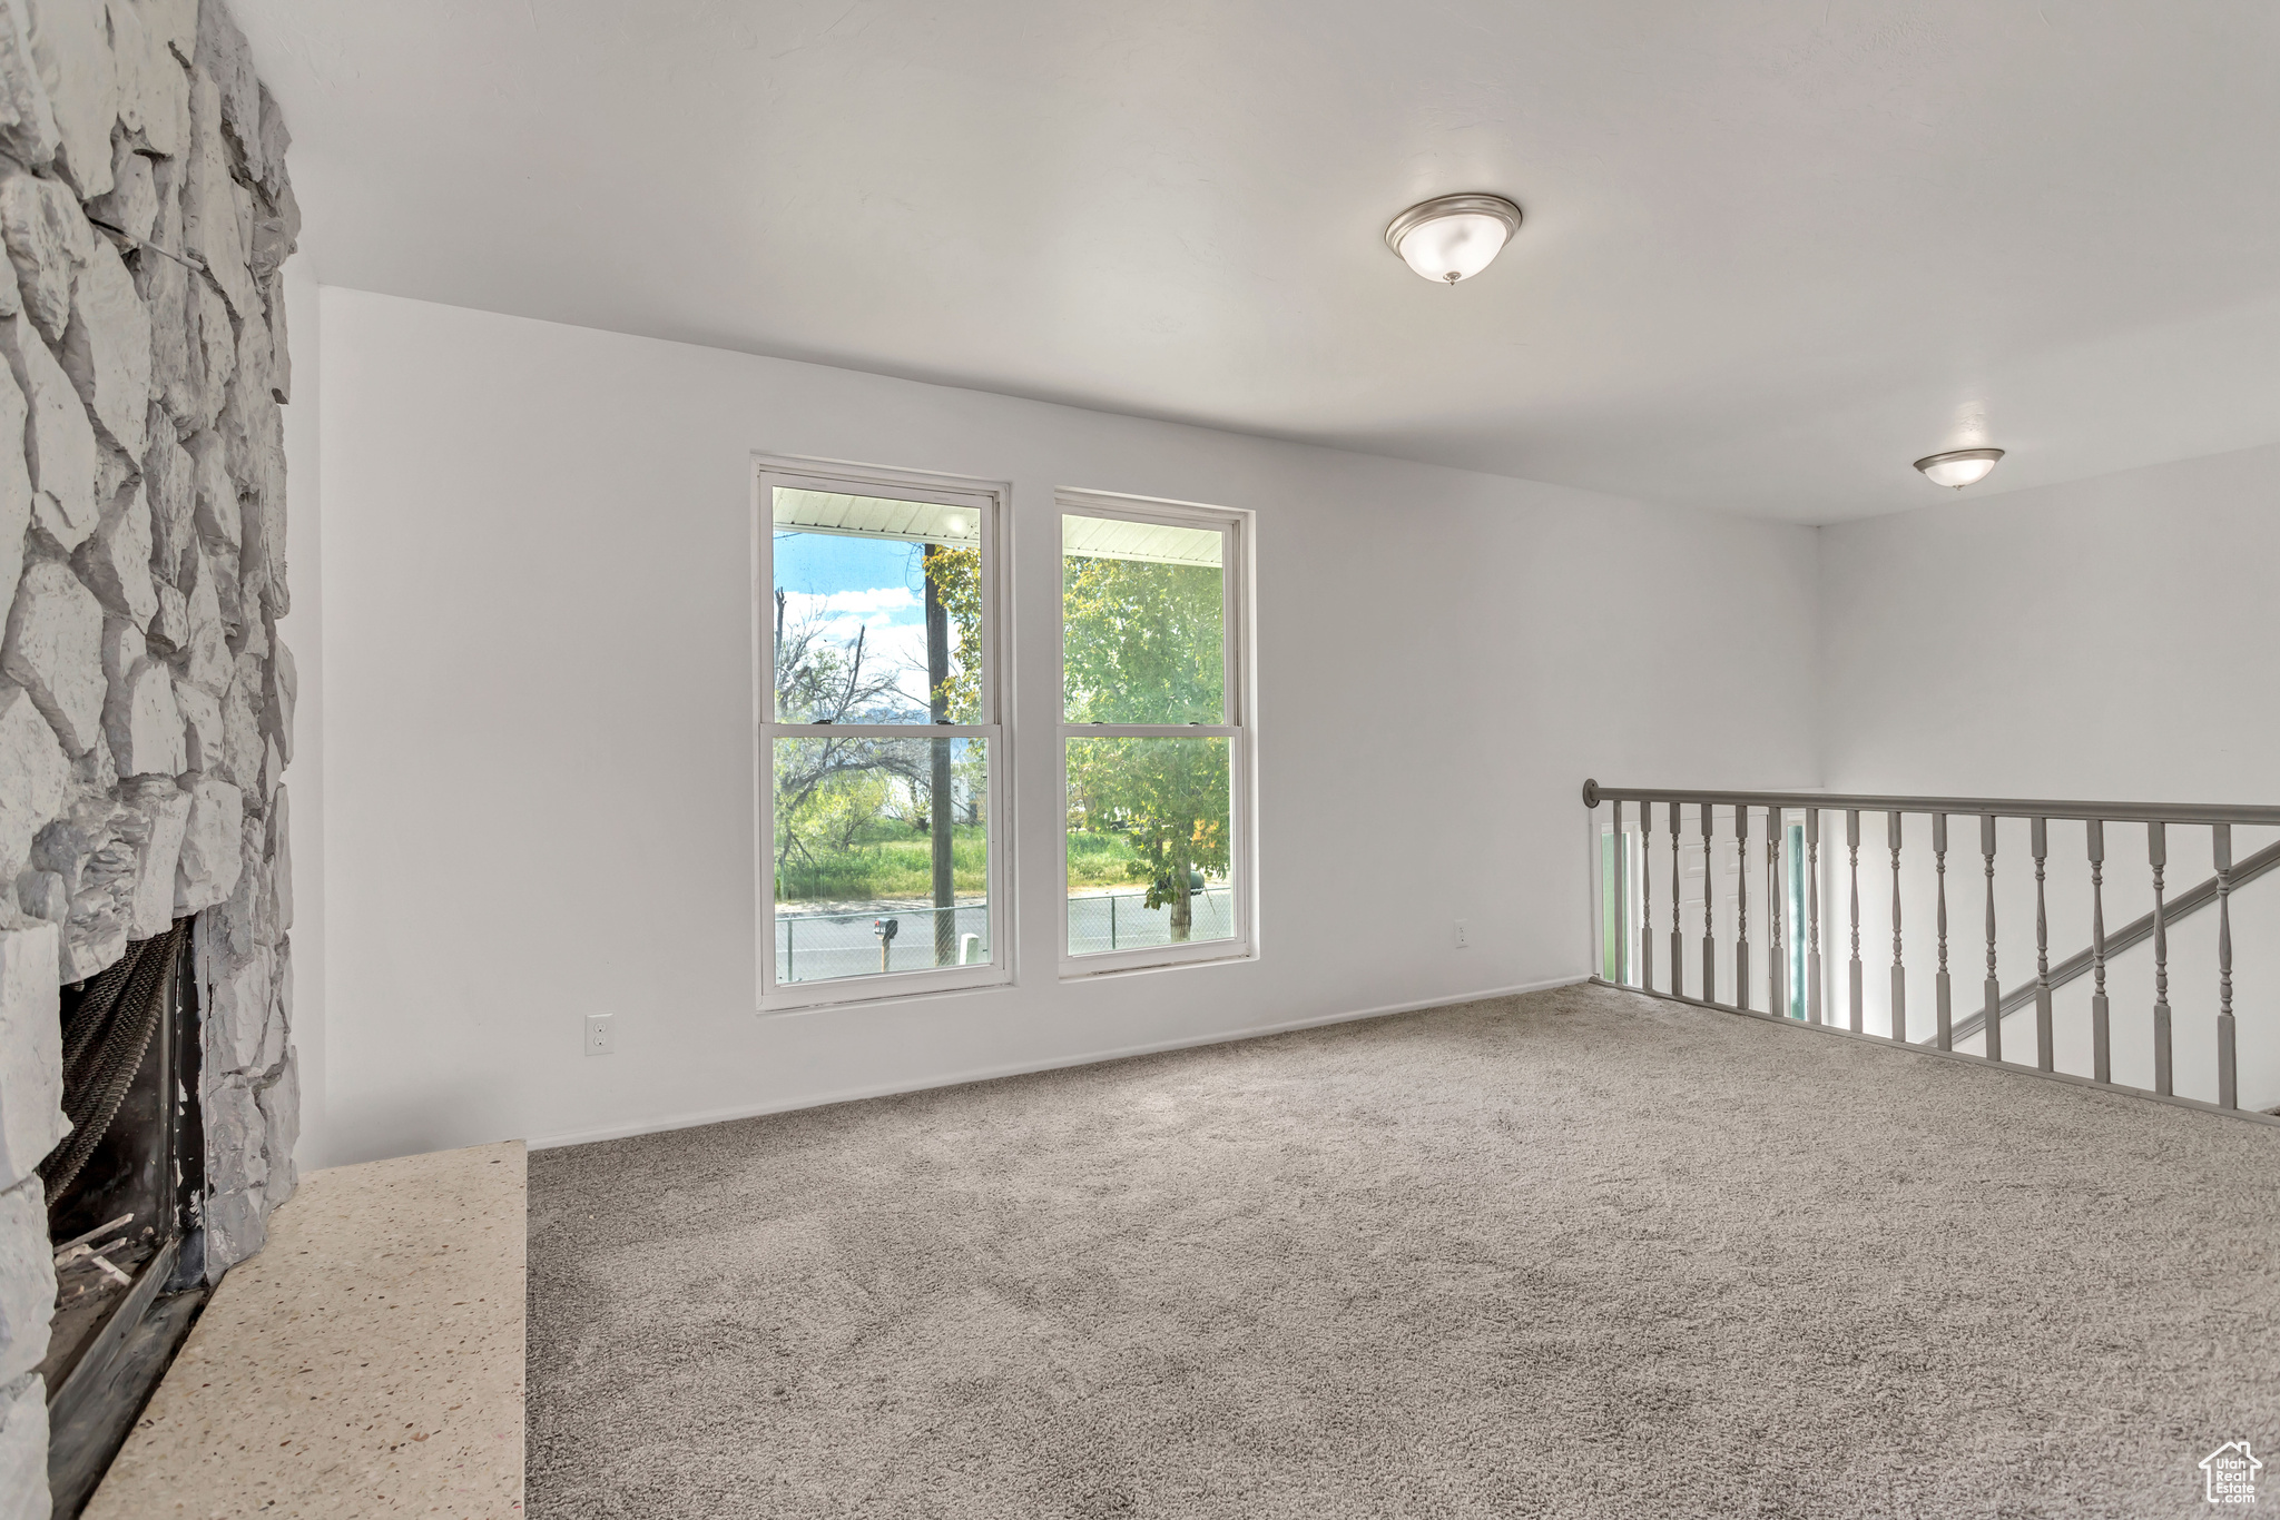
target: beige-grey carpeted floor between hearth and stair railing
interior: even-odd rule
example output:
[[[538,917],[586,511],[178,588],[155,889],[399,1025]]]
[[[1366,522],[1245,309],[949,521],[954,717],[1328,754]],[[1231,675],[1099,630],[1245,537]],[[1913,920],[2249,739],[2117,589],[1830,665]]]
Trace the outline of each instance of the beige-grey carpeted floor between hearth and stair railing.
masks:
[[[2280,1130],[1564,989],[531,1155],[529,1506],[2280,1513]]]

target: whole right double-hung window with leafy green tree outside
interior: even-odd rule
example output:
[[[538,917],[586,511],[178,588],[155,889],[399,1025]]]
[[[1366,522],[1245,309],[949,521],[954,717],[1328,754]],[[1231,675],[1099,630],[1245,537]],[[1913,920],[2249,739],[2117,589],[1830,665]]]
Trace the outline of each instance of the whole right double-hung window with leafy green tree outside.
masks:
[[[1065,975],[1249,953],[1247,526],[1060,492]]]

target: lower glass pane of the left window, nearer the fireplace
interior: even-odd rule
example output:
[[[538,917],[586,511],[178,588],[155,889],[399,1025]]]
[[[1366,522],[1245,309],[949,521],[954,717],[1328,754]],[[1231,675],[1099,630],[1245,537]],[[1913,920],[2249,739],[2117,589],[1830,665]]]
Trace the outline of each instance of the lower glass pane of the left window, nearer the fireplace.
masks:
[[[987,962],[987,738],[777,738],[775,980]]]

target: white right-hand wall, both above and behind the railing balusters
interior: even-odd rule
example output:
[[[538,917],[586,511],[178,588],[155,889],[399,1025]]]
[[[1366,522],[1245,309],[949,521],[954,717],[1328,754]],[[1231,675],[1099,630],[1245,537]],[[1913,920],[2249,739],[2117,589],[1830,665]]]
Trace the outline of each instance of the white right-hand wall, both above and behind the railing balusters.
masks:
[[[2280,779],[2280,668],[2271,567],[2280,563],[2280,447],[2050,485],[1822,529],[1822,754],[1831,791],[2123,798],[2269,804]],[[1908,857],[1929,825],[1911,818]],[[2234,855],[2271,843],[2234,830]],[[1949,857],[1952,975],[1979,1005],[1986,941],[1977,820]],[[2168,830],[2168,891],[2209,875],[2207,830]],[[2150,909],[2141,825],[2107,830],[2107,923]],[[1829,855],[1824,852],[1824,861]],[[1842,859],[1842,857],[1838,857]],[[1886,1028],[1890,855],[1883,818],[1863,820],[1867,1028]],[[2088,943],[2082,825],[2050,830],[2050,957]],[[1929,1030],[1933,880],[1902,891],[1911,1028]],[[2034,975],[2034,864],[2027,825],[1997,848],[1997,955],[2004,987]],[[2171,946],[2177,1082],[2214,1096],[2216,916]],[[2241,1098],[2280,1103],[2280,875],[2234,902],[2234,1007]],[[1842,966],[1831,964],[1842,998]],[[2086,998],[2059,998],[2061,1067],[2086,1071]],[[2152,957],[2114,971],[2116,1078],[2150,1080]],[[2004,1025],[2029,1051],[2031,1016]],[[2068,1060],[2073,1053],[2073,1062]]]

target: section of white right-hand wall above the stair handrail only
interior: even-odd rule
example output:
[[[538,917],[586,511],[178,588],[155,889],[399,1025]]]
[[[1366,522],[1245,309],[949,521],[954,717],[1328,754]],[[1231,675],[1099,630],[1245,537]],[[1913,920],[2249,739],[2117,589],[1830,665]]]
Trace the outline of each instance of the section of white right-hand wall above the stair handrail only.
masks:
[[[2253,802],[2280,447],[1822,529],[1833,788]]]

